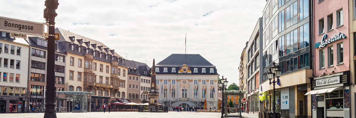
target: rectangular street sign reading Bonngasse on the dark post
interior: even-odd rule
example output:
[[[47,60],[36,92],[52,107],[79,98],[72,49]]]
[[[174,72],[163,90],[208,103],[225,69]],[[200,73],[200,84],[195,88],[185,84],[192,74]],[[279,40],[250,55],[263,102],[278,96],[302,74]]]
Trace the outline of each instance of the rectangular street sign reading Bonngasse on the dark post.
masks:
[[[45,37],[45,25],[46,23],[38,23],[0,16],[0,30],[4,32]]]

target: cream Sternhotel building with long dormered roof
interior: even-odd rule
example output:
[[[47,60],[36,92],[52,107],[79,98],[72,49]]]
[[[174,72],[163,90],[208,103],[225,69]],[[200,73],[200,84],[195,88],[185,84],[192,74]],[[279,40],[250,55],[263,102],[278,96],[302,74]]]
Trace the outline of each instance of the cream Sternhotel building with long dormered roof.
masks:
[[[99,41],[61,28],[56,28],[55,32],[60,34],[58,42],[67,53],[66,91],[93,92],[91,111],[104,103],[127,98],[128,67],[124,58]],[[72,106],[73,99],[67,102]],[[89,109],[89,105],[87,107]],[[67,108],[67,112],[72,111]]]

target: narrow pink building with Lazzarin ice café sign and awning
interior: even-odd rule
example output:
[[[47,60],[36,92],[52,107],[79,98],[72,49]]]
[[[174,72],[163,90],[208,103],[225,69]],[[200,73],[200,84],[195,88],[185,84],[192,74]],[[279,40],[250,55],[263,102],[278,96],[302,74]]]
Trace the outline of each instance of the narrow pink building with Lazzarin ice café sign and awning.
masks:
[[[349,1],[313,1],[312,118],[350,118]]]

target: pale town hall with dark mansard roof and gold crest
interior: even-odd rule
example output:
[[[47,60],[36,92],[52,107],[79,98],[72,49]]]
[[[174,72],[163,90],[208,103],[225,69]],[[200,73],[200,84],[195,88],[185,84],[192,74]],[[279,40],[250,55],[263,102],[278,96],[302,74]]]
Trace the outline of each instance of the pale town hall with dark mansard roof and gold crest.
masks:
[[[158,102],[178,107],[218,108],[216,67],[199,54],[172,54],[156,64]]]

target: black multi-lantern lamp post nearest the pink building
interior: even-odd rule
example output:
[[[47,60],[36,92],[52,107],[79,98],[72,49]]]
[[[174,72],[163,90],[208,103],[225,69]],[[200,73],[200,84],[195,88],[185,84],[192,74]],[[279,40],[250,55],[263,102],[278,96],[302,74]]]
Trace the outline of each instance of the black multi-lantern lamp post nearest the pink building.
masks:
[[[273,62],[273,66],[269,68],[267,73],[269,79],[269,85],[273,83],[273,106],[272,106],[272,118],[278,118],[276,113],[276,83],[279,81],[279,77],[281,77],[282,70],[278,69],[276,63]],[[275,79],[277,77],[277,80]],[[271,82],[273,78],[273,81]]]

